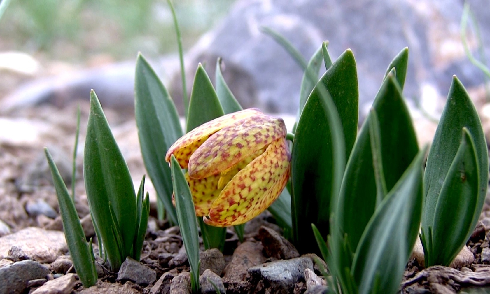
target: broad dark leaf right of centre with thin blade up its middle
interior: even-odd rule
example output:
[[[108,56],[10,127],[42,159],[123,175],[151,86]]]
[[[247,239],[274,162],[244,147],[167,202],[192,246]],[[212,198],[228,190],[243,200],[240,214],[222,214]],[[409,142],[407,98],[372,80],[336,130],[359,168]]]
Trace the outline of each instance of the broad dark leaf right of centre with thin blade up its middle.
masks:
[[[351,264],[353,252],[342,252],[345,248],[355,250],[368,221],[371,219],[377,201],[373,155],[382,163],[376,164],[383,171],[384,184],[379,192],[390,191],[396,181],[408,168],[417,154],[417,137],[412,119],[403,101],[400,88],[391,73],[381,85],[373,102],[368,118],[361,127],[357,141],[347,162],[339,195],[335,227],[338,232],[333,234],[332,251],[336,264],[340,268]],[[373,114],[379,124],[379,138],[374,140],[380,150],[372,150],[369,125]],[[373,138],[374,139],[374,138]],[[344,235],[347,240],[343,240]],[[344,243],[348,245],[343,245]],[[342,274],[343,272],[341,272]]]

